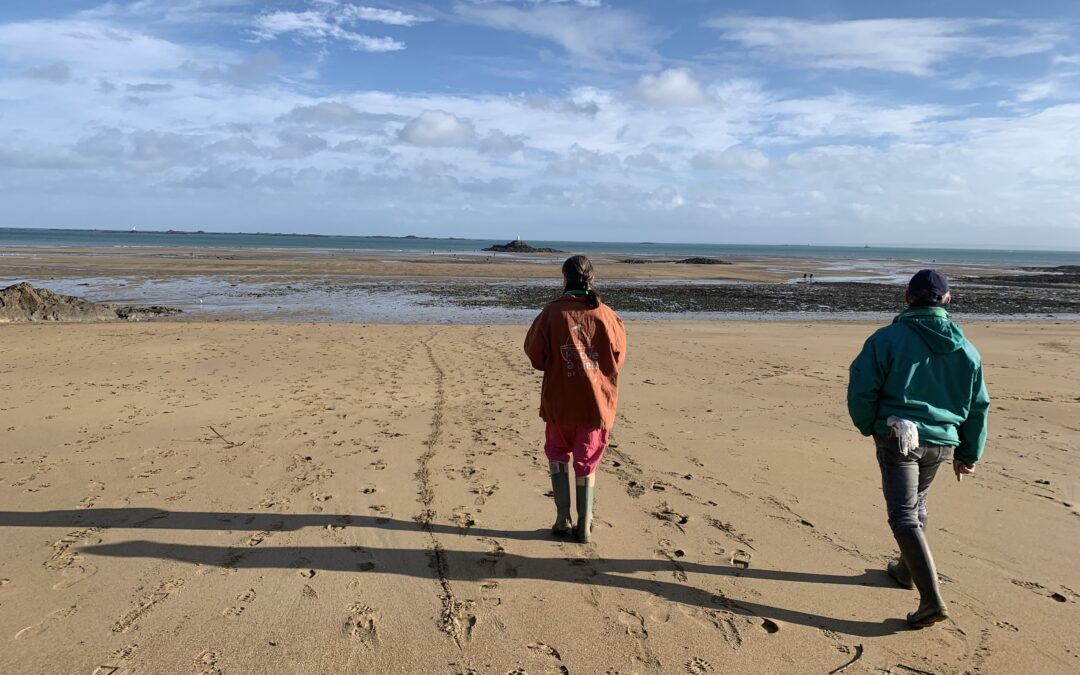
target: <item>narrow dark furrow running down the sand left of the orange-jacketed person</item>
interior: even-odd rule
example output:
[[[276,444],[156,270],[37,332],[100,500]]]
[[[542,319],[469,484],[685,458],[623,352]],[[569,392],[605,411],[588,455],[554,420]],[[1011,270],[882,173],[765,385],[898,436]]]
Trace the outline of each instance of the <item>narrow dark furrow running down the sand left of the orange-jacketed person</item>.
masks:
[[[434,336],[432,336],[434,337]],[[443,611],[440,616],[438,629],[446,633],[458,649],[462,649],[465,642],[472,637],[473,629],[476,625],[476,616],[472,612],[472,605],[462,602],[454,594],[450,586],[449,567],[446,559],[446,550],[435,536],[435,489],[431,477],[431,461],[438,449],[438,444],[443,436],[443,413],[446,409],[446,374],[435,357],[435,352],[431,347],[431,339],[423,342],[428,360],[434,370],[435,403],[431,415],[431,432],[424,441],[427,449],[417,460],[417,470],[414,474],[417,483],[417,501],[420,502],[420,513],[416,516],[416,522],[428,532],[430,540],[428,544],[428,559],[432,571],[435,573],[435,581],[438,582]]]

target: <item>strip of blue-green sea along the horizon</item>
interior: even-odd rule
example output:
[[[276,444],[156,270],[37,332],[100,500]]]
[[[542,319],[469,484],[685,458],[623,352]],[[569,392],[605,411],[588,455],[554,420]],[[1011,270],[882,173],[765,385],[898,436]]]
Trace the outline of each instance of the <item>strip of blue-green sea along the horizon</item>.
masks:
[[[1056,267],[1080,265],[1078,251],[1024,251],[983,248],[916,248],[886,246],[734,245],[627,242],[567,242],[526,239],[545,246],[582,254],[639,257],[708,256],[724,259],[794,258],[849,260],[852,271],[860,261],[892,260],[916,265],[970,265],[994,267]],[[0,247],[170,247],[170,248],[292,248],[352,249],[423,255],[431,252],[461,255],[480,254],[505,240],[408,239],[389,237],[322,237],[303,234],[240,234],[213,232],[132,232],[121,230],[52,230],[0,228]]]

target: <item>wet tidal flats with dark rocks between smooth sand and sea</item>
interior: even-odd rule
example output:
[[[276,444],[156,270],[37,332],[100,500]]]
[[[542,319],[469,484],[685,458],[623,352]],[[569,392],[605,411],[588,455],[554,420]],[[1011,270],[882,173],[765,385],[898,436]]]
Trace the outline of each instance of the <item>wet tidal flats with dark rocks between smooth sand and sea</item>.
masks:
[[[492,257],[267,249],[33,249],[0,257],[27,281],[97,302],[176,307],[172,321],[528,323],[559,289],[562,255]],[[595,256],[605,301],[633,320],[882,321],[903,309],[908,260],[755,258],[631,264]],[[1080,274],[939,266],[958,321],[1080,321]],[[810,281],[812,274],[813,280]]]

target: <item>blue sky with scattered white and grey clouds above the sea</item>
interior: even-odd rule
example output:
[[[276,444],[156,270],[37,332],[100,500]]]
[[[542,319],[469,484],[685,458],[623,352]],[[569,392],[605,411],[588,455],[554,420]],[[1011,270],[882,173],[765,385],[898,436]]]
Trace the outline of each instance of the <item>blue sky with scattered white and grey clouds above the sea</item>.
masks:
[[[0,227],[1080,248],[1080,3],[3,0],[0,203]]]

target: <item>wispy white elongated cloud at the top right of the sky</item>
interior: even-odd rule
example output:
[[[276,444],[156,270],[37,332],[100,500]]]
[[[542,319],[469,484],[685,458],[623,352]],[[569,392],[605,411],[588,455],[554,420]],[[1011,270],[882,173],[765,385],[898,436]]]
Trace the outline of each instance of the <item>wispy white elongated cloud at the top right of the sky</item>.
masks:
[[[1052,50],[1064,36],[1034,22],[881,18],[813,22],[723,17],[707,22],[725,39],[801,67],[930,76],[955,57],[1021,56]]]

